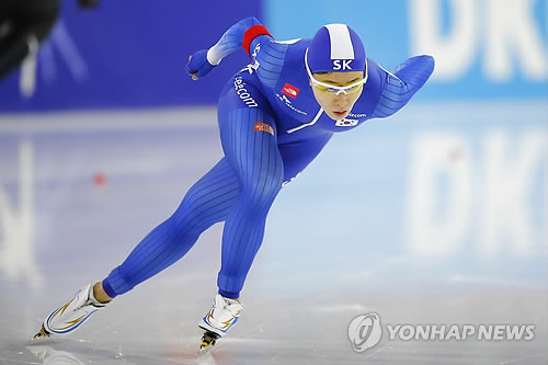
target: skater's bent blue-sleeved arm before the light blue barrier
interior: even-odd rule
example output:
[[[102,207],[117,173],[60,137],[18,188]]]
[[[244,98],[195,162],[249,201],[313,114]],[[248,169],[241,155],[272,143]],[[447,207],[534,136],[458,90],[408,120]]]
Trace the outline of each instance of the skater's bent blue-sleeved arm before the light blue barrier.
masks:
[[[393,73],[378,67],[386,83],[372,117],[387,117],[402,109],[426,82],[434,71],[434,58],[426,55],[411,57]]]

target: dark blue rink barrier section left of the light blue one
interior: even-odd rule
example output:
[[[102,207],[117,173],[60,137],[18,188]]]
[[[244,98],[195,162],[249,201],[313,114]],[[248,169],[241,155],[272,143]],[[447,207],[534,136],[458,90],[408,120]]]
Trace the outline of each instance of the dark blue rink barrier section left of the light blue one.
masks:
[[[0,113],[214,104],[248,56],[227,57],[199,82],[186,75],[189,56],[213,46],[241,18],[262,12],[254,0],[101,1],[88,11],[77,2],[64,1],[39,52],[35,90],[28,95],[20,88],[20,71],[0,81]]]

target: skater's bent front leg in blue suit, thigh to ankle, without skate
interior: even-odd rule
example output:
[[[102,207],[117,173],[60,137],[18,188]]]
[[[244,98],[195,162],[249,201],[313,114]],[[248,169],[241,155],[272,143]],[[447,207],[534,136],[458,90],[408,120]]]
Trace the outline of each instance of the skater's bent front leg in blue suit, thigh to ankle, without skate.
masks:
[[[238,175],[240,194],[225,221],[217,284],[220,295],[236,299],[263,241],[266,216],[282,189],[284,166],[269,110],[239,109],[219,115],[219,126],[225,156]]]

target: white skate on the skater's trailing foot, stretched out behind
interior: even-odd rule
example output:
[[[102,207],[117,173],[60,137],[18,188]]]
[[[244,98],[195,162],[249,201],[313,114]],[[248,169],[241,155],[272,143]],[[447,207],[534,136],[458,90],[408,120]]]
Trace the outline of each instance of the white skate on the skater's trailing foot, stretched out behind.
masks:
[[[93,297],[93,284],[88,284],[78,290],[66,305],[54,310],[46,318],[33,340],[72,332],[91,315],[104,307],[106,304],[102,304]]]

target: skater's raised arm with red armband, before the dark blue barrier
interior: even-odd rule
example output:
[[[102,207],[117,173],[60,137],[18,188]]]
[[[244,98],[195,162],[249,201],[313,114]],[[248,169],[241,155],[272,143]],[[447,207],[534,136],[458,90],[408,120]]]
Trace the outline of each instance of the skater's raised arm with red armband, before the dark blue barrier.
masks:
[[[194,80],[201,79],[219,65],[224,57],[240,47],[243,47],[251,57],[250,48],[256,44],[258,38],[262,37],[266,37],[267,41],[272,39],[269,31],[255,18],[243,19],[225,32],[213,47],[198,50],[189,57],[186,72]]]

